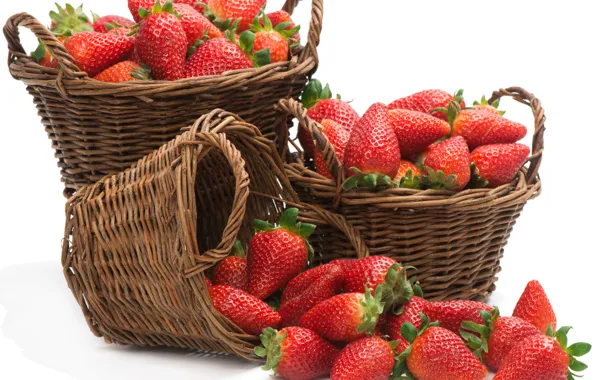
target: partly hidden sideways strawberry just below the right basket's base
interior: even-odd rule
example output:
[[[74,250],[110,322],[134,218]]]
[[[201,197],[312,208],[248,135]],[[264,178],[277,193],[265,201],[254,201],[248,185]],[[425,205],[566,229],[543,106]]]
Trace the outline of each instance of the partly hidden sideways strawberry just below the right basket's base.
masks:
[[[489,305],[476,301],[430,302],[425,314],[431,321],[438,321],[440,326],[458,333],[464,321],[482,323],[480,311],[491,311]]]

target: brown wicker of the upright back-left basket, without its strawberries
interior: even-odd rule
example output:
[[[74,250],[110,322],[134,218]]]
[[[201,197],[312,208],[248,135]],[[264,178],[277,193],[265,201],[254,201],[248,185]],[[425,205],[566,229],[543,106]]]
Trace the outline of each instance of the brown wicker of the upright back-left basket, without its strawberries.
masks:
[[[292,13],[299,0],[287,0]],[[323,0],[313,0],[308,40],[288,62],[221,76],[174,82],[96,81],[75,65],[56,37],[33,16],[19,13],[4,26],[10,73],[27,85],[56,151],[65,195],[115,174],[174,138],[216,108],[258,126],[273,125],[273,106],[297,98],[318,65]],[[59,69],[38,65],[23,49],[18,27],[30,29],[53,52]],[[263,129],[273,136],[272,130]]]

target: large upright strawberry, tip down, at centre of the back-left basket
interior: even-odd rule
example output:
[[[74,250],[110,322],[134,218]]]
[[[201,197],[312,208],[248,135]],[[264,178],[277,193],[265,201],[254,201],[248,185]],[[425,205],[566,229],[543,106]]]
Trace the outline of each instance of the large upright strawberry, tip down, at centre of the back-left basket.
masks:
[[[143,20],[137,31],[136,49],[141,61],[151,67],[157,80],[184,77],[184,61],[188,40],[180,19],[172,12],[173,5],[156,3],[151,11],[139,10]]]

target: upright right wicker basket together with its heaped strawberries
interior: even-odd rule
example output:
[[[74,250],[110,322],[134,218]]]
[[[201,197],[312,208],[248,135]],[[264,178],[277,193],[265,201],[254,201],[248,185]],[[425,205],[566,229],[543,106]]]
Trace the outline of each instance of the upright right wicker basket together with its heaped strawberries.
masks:
[[[501,98],[528,106],[527,128],[499,110]],[[302,102],[281,100],[279,122],[298,122],[297,140],[280,129],[286,173],[303,202],[343,215],[371,255],[418,268],[429,299],[483,300],[495,289],[503,248],[526,202],[540,194],[544,111],[512,87],[466,105],[463,93],[427,90],[360,117],[312,80]],[[350,245],[325,231],[323,257]]]

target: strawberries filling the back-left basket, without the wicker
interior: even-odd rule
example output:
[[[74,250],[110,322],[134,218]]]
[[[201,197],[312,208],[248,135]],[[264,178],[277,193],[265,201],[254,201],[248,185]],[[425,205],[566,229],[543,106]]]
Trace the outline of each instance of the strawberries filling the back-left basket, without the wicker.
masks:
[[[173,1],[173,2],[172,2]],[[50,12],[50,29],[77,66],[105,82],[178,80],[287,61],[300,46],[285,11],[264,13],[266,0],[128,0],[134,19],[93,20],[82,5]],[[58,68],[42,43],[31,53]]]

